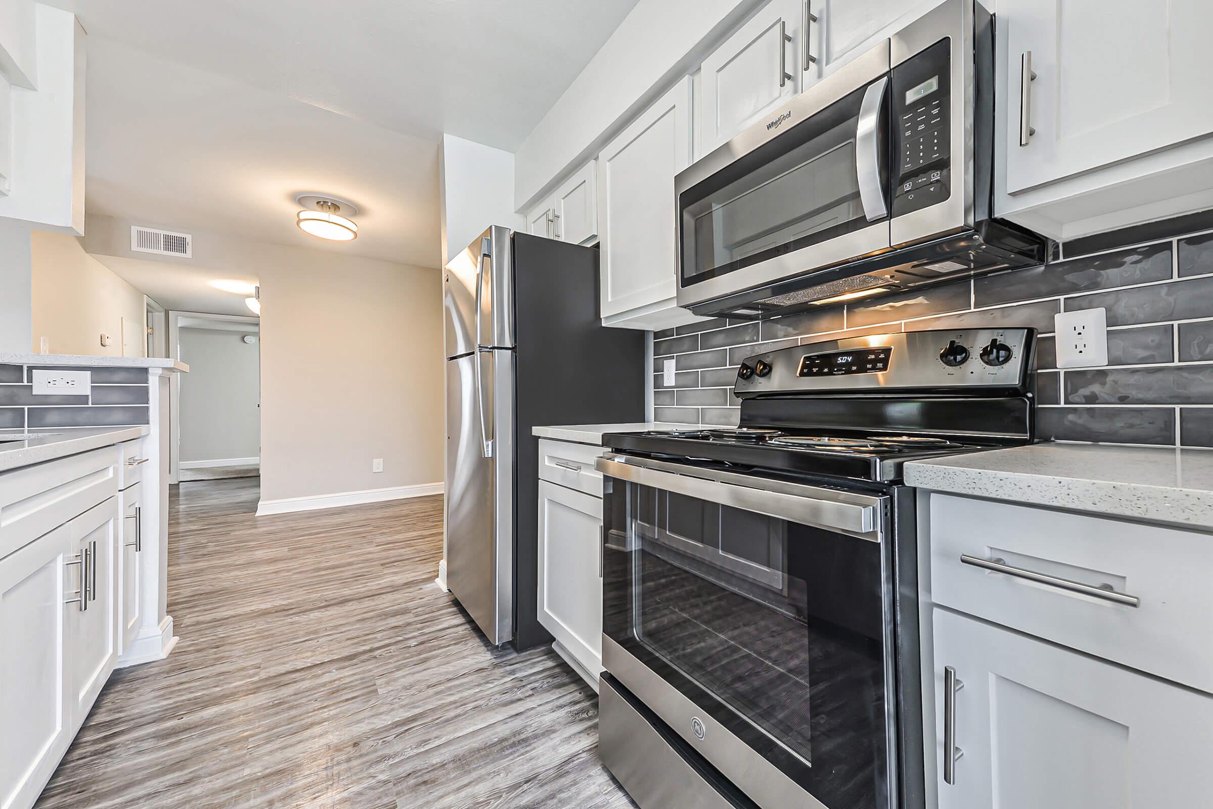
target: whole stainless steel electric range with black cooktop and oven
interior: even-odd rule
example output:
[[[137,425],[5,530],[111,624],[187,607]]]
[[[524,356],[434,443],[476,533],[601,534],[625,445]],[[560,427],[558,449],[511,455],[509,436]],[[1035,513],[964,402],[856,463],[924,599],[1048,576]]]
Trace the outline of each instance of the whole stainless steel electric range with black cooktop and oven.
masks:
[[[923,807],[901,467],[1032,441],[1035,338],[757,354],[736,429],[603,437],[599,750],[643,809]]]

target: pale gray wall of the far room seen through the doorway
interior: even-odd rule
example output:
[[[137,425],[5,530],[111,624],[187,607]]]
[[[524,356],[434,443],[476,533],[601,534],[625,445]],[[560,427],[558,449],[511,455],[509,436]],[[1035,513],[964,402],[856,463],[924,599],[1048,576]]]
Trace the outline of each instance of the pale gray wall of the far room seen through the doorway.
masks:
[[[256,329],[182,327],[181,463],[255,458],[261,454],[260,341]]]

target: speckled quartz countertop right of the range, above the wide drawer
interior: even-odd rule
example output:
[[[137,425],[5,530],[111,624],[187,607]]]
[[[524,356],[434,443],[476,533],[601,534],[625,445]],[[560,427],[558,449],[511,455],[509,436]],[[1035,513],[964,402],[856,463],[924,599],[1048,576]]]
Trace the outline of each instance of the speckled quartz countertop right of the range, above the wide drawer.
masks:
[[[1213,529],[1213,450],[1036,444],[905,466],[919,489]]]

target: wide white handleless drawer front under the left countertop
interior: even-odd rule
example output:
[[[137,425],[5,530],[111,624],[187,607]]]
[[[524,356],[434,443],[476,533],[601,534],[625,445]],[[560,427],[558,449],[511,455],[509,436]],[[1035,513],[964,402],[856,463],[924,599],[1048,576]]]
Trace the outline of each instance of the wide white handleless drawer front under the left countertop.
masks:
[[[114,448],[0,474],[0,558],[118,494]]]

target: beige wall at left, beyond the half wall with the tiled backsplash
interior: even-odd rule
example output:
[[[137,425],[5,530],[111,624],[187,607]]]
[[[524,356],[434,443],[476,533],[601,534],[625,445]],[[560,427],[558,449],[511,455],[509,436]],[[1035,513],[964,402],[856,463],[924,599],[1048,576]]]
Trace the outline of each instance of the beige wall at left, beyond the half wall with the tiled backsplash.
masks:
[[[130,355],[143,357],[143,294],[84,251],[80,239],[32,232],[33,347],[50,341],[52,354],[123,355],[123,318]],[[101,335],[113,342],[102,347]]]

